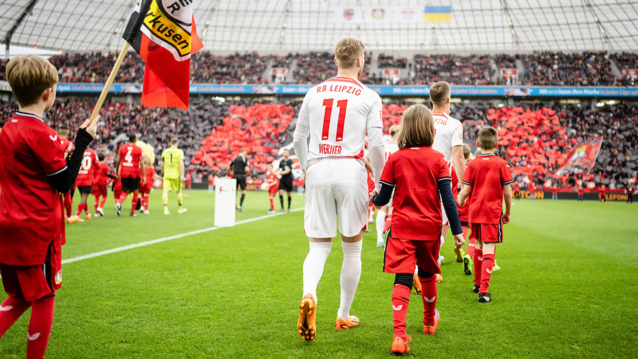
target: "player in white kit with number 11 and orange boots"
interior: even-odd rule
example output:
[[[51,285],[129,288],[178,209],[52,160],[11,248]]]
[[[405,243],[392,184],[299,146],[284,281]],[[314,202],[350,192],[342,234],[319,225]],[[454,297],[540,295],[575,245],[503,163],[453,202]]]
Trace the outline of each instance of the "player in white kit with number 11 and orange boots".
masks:
[[[364,66],[364,44],[357,38],[342,38],[334,49],[334,63],[336,77],[311,88],[304,98],[293,135],[306,181],[304,230],[310,241],[297,322],[305,340],[315,339],[316,287],[332,238],[337,236],[337,219],[343,266],[335,329],[359,325],[359,318],[350,316],[350,306],[359,285],[361,240],[367,223],[369,195],[363,159],[366,133],[375,192],[380,188],[385,165],[381,98],[357,80]]]

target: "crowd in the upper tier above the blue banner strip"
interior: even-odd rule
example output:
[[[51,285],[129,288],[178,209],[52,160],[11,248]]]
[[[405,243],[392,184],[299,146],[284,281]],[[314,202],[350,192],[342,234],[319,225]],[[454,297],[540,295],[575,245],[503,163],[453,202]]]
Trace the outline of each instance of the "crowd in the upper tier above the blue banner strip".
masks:
[[[64,53],[50,58],[60,75],[60,82],[106,81],[117,52]],[[366,65],[360,80],[366,84],[428,85],[445,80],[453,85],[520,84],[530,86],[636,86],[634,76],[618,78],[611,62],[624,69],[638,69],[638,54],[621,52],[533,52],[531,54],[497,54],[461,56],[456,54],[417,54],[406,57],[378,54],[376,68],[371,68],[372,54],[366,52]],[[492,68],[491,59],[496,64]],[[524,71],[516,82],[500,73],[501,68],[517,68],[521,59]],[[191,82],[209,84],[266,84],[275,81],[265,74],[268,66],[294,69],[293,84],[317,84],[336,75],[334,55],[330,52],[307,52],[286,56],[260,56],[256,52],[218,56],[200,51],[191,59]],[[294,65],[294,66],[293,66]],[[0,61],[0,80],[5,79],[6,61]],[[389,79],[385,69],[401,70],[399,79]],[[407,70],[407,71],[406,71]],[[520,70],[517,68],[517,70]],[[496,71],[496,72],[495,72]],[[115,82],[141,83],[144,63],[135,53],[124,57]]]

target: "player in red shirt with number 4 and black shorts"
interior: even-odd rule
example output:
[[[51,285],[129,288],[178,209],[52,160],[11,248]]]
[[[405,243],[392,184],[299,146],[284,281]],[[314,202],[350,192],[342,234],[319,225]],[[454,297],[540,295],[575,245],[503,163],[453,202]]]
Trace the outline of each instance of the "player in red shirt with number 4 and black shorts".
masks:
[[[142,170],[142,184],[145,183],[146,171],[142,165],[140,158],[142,149],[135,145],[137,136],[135,134],[128,135],[128,142],[122,146],[117,152],[117,160],[115,160],[115,176],[122,179],[122,194],[115,202],[115,213],[119,216],[122,214],[122,203],[126,196],[133,192],[131,200],[131,217],[137,217],[135,214],[135,206],[137,206],[138,193],[140,190],[140,169]],[[122,160],[122,158],[124,160]]]

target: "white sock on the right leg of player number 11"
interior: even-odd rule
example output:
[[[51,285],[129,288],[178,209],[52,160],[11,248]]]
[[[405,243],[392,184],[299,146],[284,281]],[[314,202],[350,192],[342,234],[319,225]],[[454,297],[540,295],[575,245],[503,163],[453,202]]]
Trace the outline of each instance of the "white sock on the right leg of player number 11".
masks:
[[[343,319],[348,319],[350,316],[350,306],[352,306],[357,286],[359,286],[362,247],[363,241],[355,243],[341,241],[343,265],[341,266],[341,302],[339,303],[337,316]]]

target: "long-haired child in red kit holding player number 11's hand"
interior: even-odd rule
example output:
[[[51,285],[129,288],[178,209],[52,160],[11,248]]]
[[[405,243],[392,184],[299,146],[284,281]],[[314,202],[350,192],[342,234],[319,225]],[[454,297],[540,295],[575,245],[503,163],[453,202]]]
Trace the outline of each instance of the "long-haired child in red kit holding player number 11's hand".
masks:
[[[397,138],[399,151],[389,156],[381,176],[381,190],[371,199],[376,208],[381,208],[392,197],[394,207],[383,271],[396,273],[392,290],[392,352],[399,354],[410,351],[408,342],[412,340],[405,328],[415,262],[424,305],[424,333],[434,334],[440,321],[436,310],[436,274],[441,273],[438,264],[443,218],[441,201],[456,247],[463,247],[465,243],[449,167],[443,155],[431,147],[434,142],[432,112],[424,105],[412,105],[404,112],[401,126]]]

